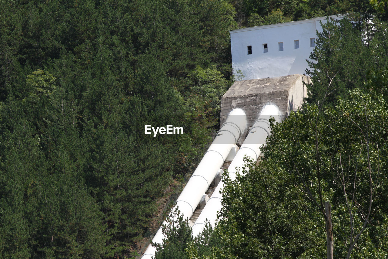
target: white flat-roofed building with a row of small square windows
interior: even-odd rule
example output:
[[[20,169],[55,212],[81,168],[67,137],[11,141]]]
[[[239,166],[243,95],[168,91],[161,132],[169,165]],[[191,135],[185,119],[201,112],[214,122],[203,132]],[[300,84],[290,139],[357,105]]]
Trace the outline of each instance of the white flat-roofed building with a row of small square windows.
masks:
[[[341,19],[343,16],[329,16]],[[230,31],[233,73],[240,80],[303,74],[326,17]]]

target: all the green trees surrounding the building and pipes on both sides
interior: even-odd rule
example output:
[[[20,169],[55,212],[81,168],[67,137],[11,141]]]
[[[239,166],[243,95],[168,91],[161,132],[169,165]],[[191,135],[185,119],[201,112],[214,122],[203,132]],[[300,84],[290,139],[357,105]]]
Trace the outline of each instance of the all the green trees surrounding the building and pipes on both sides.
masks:
[[[388,256],[385,1],[0,3],[1,258],[139,258],[241,79],[229,30],[340,13],[303,109],[272,123],[262,163],[224,179],[223,220],[196,240],[183,220],[166,228],[156,257],[322,258],[324,201],[336,258]]]

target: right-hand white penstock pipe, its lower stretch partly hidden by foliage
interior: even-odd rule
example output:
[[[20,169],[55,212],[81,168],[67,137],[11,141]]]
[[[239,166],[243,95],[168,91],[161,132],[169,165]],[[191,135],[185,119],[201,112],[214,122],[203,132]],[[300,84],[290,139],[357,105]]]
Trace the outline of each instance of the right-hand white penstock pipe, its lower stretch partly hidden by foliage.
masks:
[[[238,168],[242,169],[244,166],[244,157],[247,156],[249,160],[255,161],[261,154],[260,147],[266,143],[268,135],[270,135],[269,122],[270,117],[275,117],[275,120],[279,120],[279,108],[276,105],[265,105],[258,119],[253,123],[248,136],[245,138],[244,143],[237,152],[235,158],[228,168],[230,179],[236,179],[236,171]],[[248,172],[248,168],[246,168]],[[221,210],[222,194],[220,191],[223,189],[223,182],[221,181],[217,188],[214,190],[213,195],[207,201],[206,206],[203,208],[196,223],[192,227],[193,236],[198,236],[204,229],[206,220],[209,221],[212,228],[215,227],[217,220],[217,214]]]

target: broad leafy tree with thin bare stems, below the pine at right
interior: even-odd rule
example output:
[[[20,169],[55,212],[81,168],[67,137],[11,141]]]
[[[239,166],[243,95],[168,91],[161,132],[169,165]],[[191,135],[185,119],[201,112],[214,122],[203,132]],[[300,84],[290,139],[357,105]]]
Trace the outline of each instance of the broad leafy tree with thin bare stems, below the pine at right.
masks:
[[[369,94],[353,91],[349,101],[340,100],[336,109],[328,108],[324,115],[317,107],[311,107],[303,114],[290,116],[284,125],[279,125],[282,130],[274,128],[266,148],[265,154],[269,152],[271,158],[288,161],[283,164],[284,169],[293,175],[294,184],[310,196],[317,210],[322,211],[322,200],[332,204],[334,252],[340,257],[346,257],[349,251],[352,258],[364,258],[360,247],[365,247],[366,254],[383,253],[378,242],[381,236],[376,238],[371,231],[376,219],[386,215],[385,210],[377,209],[383,206],[386,196],[384,191],[377,191],[387,184],[383,169],[385,120],[381,97],[372,100]],[[369,205],[377,210],[369,211]],[[359,240],[355,240],[359,233]],[[357,249],[352,251],[355,243]]]

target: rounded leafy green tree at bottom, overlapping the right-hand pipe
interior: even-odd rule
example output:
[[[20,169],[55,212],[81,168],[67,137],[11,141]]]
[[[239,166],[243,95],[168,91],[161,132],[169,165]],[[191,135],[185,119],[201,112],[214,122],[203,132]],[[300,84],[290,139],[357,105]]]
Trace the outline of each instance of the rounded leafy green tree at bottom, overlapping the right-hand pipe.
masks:
[[[293,177],[275,160],[247,167],[248,175],[224,179],[217,258],[324,257],[324,231],[317,228],[324,223],[290,184]]]

